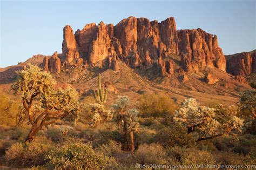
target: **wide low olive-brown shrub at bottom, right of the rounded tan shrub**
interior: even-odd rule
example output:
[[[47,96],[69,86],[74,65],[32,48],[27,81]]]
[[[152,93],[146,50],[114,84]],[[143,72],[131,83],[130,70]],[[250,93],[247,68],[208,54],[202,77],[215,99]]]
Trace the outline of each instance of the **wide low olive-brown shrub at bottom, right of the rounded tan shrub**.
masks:
[[[178,160],[181,165],[215,165],[215,158],[210,152],[196,148],[170,147],[166,150],[166,155]]]

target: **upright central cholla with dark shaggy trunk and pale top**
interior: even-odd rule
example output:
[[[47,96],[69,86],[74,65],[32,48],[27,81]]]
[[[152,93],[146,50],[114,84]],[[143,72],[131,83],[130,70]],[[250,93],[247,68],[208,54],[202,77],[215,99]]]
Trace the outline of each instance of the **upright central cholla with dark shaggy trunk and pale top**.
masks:
[[[133,132],[139,130],[137,122],[138,111],[136,109],[128,110],[130,99],[127,96],[118,96],[116,102],[111,106],[115,113],[116,120],[123,126],[124,138],[132,155],[134,155]],[[130,141],[128,133],[130,132]]]

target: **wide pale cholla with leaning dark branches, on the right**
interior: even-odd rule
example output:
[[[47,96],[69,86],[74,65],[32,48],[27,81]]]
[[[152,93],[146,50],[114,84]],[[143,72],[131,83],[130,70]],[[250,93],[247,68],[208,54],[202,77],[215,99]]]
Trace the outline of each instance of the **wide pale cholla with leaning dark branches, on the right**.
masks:
[[[173,120],[187,127],[187,133],[197,134],[197,141],[220,137],[224,134],[235,135],[241,132],[243,120],[236,117],[237,112],[199,106],[196,99],[185,99],[174,114]]]

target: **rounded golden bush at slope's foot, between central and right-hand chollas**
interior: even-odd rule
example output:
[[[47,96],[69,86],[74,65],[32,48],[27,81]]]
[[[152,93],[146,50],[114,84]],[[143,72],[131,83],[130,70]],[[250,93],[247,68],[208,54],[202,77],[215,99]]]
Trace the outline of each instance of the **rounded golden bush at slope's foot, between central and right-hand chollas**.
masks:
[[[172,115],[178,106],[166,94],[146,94],[139,99],[139,112],[142,117],[163,117]]]

